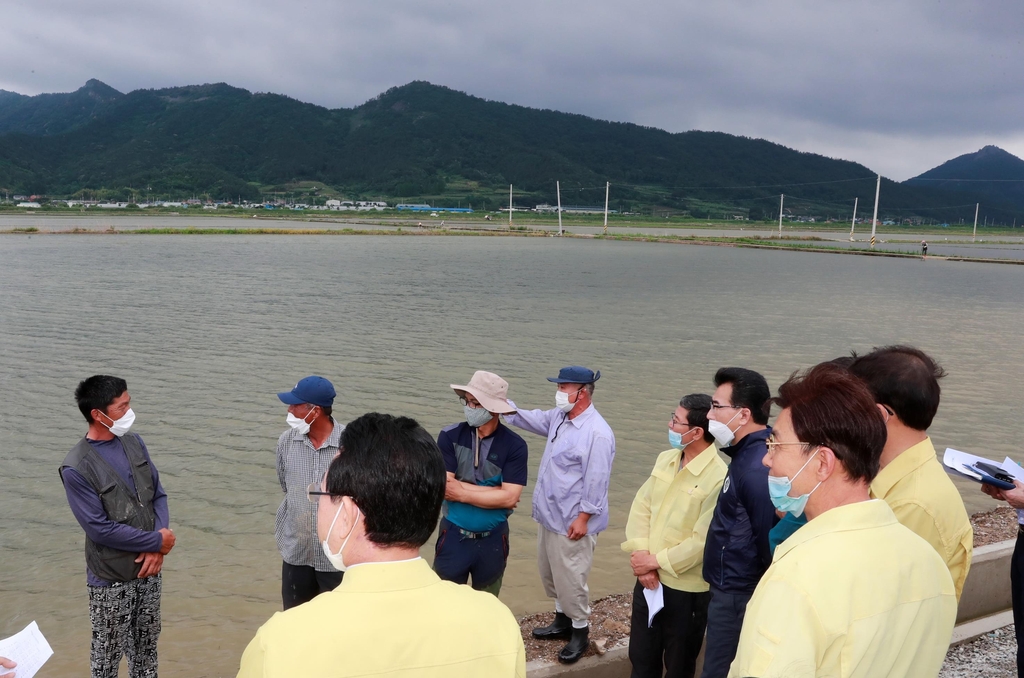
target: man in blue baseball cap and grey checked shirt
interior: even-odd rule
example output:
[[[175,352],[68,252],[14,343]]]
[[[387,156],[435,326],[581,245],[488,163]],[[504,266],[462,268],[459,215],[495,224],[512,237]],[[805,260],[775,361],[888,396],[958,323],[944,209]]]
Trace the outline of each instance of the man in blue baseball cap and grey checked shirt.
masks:
[[[338,454],[344,426],[331,416],[334,396],[334,386],[324,377],[306,377],[292,390],[278,393],[288,406],[289,426],[278,440],[278,479],[285,499],[274,526],[285,609],[341,584],[342,574],[327,559],[316,537],[316,505],[306,494],[310,484],[324,479]]]

